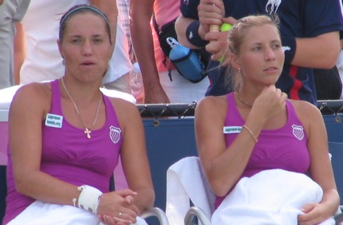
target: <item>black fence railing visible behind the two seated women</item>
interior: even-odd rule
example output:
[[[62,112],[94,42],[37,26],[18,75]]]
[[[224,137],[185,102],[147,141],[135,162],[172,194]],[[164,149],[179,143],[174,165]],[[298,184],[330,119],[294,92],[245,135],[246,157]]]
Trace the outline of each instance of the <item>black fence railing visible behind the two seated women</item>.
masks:
[[[196,102],[191,104],[137,104],[141,117],[193,117]],[[322,115],[343,113],[343,100],[320,100],[317,103]]]

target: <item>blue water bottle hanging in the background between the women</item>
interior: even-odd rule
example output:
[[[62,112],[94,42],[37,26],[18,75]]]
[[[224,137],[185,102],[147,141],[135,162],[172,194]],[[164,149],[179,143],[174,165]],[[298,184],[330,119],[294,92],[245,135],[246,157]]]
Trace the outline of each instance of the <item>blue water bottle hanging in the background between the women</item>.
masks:
[[[193,83],[200,82],[204,78],[204,65],[200,62],[200,56],[192,49],[182,46],[174,38],[167,38],[170,45],[169,59],[174,63],[178,72]]]

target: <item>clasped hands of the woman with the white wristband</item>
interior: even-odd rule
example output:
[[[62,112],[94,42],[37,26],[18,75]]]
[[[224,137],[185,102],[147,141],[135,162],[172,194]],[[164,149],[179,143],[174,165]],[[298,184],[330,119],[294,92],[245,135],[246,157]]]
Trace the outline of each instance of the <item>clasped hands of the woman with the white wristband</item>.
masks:
[[[137,193],[130,189],[104,193],[99,201],[100,222],[109,225],[125,225],[137,222],[139,209],[133,204]]]

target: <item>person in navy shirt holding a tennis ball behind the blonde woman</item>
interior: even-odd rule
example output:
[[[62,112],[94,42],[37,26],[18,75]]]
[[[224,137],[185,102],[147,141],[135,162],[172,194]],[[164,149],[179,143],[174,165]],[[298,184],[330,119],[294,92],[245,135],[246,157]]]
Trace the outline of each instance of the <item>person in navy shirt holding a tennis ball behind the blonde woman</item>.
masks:
[[[213,54],[208,69],[211,85],[206,95],[224,95],[232,91],[232,87],[222,85],[226,69],[214,68],[221,65],[218,59],[230,54],[228,32],[210,32],[210,25],[233,24],[250,14],[278,15],[285,66],[276,86],[291,99],[316,105],[312,68],[331,69],[338,58],[338,33],[343,29],[340,1],[187,0],[182,1],[182,16],[176,21],[176,31],[182,45],[192,48],[206,45]],[[222,65],[225,64],[224,61]]]

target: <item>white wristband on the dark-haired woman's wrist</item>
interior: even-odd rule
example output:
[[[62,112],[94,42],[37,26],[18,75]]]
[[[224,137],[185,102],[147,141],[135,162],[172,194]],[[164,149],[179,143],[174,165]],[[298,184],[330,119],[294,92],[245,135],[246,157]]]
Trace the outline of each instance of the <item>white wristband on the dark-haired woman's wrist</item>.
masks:
[[[97,214],[97,207],[99,206],[99,199],[102,196],[102,192],[88,185],[82,185],[78,187],[78,190],[81,191],[78,199],[79,208]]]

